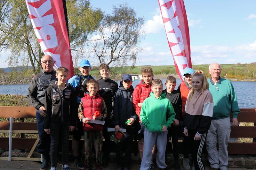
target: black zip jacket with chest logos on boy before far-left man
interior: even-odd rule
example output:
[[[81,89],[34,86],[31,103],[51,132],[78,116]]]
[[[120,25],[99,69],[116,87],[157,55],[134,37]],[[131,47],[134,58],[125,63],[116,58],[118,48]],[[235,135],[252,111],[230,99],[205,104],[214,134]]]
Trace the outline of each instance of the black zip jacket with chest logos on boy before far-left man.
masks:
[[[69,122],[75,126],[77,118],[76,93],[74,88],[66,82],[65,89],[61,92],[56,81],[49,86],[45,94],[46,118],[44,129],[50,129],[51,122]]]

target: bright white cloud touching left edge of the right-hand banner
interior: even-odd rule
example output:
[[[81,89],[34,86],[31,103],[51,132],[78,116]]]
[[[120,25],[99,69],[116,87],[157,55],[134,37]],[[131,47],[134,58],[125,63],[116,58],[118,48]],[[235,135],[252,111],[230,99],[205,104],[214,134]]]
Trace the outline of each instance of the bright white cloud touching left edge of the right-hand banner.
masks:
[[[153,16],[152,20],[148,20],[141,28],[142,32],[148,33],[159,33],[164,29],[164,23],[161,13]]]

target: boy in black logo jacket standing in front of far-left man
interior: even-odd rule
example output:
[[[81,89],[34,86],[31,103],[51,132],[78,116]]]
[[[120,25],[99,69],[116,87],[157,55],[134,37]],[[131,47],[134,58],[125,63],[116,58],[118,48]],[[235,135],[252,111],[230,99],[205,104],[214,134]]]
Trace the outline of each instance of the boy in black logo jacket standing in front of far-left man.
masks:
[[[46,117],[44,131],[51,136],[51,170],[56,169],[59,137],[61,136],[63,170],[68,167],[68,136],[75,129],[76,94],[74,88],[67,83],[68,69],[60,67],[56,70],[56,81],[50,85],[45,94]]]

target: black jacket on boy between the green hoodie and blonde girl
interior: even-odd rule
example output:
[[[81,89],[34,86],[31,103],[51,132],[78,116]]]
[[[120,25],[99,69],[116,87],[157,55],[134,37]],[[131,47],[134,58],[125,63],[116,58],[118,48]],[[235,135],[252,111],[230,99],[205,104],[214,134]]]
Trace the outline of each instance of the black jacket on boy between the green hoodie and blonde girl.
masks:
[[[174,112],[176,113],[175,119],[181,121],[182,100],[180,92],[178,92],[177,90],[173,90],[171,93],[168,93],[166,89],[163,90],[163,92],[166,92],[165,98],[169,99],[172,103],[172,107],[174,109]]]

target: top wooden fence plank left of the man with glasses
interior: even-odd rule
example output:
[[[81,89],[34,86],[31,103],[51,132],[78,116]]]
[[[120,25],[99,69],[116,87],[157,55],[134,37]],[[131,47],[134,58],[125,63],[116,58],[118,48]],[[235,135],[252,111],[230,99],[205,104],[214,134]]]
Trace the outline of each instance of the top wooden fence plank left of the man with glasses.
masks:
[[[0,117],[35,118],[36,109],[34,107],[1,106]]]

